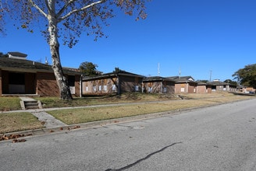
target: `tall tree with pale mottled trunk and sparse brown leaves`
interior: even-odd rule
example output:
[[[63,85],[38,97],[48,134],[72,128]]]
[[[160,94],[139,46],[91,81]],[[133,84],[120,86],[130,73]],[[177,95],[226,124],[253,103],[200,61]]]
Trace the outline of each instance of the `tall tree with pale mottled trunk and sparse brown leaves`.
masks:
[[[33,32],[39,25],[46,37],[52,54],[52,69],[62,99],[72,99],[63,75],[59,55],[59,38],[63,44],[73,47],[81,33],[94,34],[95,39],[103,37],[102,25],[114,16],[113,9],[122,9],[127,15],[135,12],[137,19],[145,19],[145,4],[150,0],[0,0],[0,23],[6,19],[20,21],[23,29]],[[116,8],[117,7],[117,8]],[[0,25],[0,31],[1,29]]]

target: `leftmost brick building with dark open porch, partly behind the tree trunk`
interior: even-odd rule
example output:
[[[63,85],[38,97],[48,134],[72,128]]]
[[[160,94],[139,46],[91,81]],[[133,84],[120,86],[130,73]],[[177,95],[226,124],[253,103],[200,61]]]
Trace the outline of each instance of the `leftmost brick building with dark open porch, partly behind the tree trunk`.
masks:
[[[51,65],[27,60],[27,54],[9,52],[0,58],[0,96],[59,96]],[[73,96],[80,96],[80,73],[63,68]]]

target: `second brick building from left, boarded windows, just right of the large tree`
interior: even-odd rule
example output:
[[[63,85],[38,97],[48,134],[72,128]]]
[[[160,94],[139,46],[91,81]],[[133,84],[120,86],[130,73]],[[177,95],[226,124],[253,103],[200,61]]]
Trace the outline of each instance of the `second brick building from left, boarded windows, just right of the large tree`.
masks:
[[[122,92],[141,92],[144,76],[119,70],[94,77],[82,79],[82,94],[106,95]]]

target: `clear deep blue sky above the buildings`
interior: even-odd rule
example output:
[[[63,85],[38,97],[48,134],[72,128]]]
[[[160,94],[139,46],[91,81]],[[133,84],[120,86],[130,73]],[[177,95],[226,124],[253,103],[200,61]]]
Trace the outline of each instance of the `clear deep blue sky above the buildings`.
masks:
[[[101,72],[118,67],[139,75],[182,76],[194,79],[233,79],[256,57],[255,0],[152,0],[148,18],[135,21],[116,11],[104,29],[108,38],[94,41],[82,35],[75,47],[61,47],[62,66],[78,68],[84,61]],[[16,30],[7,24],[0,52],[20,51],[32,61],[51,61],[40,33]],[[211,72],[212,71],[212,72]]]

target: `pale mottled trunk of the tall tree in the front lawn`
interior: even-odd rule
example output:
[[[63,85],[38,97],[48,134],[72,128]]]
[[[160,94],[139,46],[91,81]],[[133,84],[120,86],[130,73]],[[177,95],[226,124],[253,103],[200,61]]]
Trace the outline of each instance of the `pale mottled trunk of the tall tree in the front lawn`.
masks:
[[[62,65],[59,57],[59,40],[57,30],[57,19],[51,17],[48,18],[49,26],[49,45],[52,54],[52,69],[55,74],[55,79],[59,86],[59,92],[61,99],[72,99],[72,95],[68,86],[66,77],[63,74]]]

